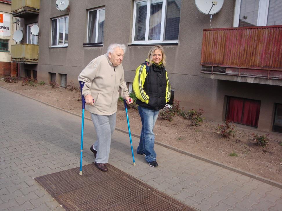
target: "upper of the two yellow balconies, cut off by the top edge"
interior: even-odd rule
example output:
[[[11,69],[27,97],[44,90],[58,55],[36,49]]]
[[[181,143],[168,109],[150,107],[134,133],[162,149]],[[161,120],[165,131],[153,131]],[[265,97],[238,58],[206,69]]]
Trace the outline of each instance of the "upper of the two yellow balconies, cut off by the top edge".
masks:
[[[14,17],[28,18],[39,14],[40,0],[13,0],[12,12]]]

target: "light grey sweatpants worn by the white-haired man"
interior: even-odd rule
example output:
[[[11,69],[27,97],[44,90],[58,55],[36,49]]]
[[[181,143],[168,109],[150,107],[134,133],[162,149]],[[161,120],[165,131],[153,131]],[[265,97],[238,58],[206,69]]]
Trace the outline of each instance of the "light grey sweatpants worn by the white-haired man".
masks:
[[[92,122],[97,133],[97,141],[93,148],[97,151],[96,163],[108,163],[111,135],[115,130],[116,113],[106,116],[91,113]]]

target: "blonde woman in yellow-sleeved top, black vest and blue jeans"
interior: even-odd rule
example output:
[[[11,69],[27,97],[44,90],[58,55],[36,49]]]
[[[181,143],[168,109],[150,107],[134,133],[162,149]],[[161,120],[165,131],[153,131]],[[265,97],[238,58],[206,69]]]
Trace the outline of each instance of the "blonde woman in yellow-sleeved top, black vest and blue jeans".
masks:
[[[153,128],[160,109],[171,96],[170,83],[165,69],[166,56],[162,46],[156,45],[148,53],[146,62],[136,69],[133,90],[136,94],[142,129],[137,153],[144,155],[150,166],[156,167]]]

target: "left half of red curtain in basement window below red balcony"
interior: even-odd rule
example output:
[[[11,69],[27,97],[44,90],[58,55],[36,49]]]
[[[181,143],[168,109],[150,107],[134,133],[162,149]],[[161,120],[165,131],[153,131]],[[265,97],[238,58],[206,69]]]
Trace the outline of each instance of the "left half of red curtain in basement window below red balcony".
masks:
[[[240,98],[229,98],[226,120],[241,123],[243,102]]]

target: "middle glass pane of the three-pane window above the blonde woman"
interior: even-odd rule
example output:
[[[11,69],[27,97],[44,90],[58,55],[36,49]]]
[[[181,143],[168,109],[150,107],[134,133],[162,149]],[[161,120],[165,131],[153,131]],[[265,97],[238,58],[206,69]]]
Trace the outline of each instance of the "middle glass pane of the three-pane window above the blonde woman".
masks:
[[[151,1],[148,40],[160,40],[161,23],[162,23],[162,0],[153,0]]]

